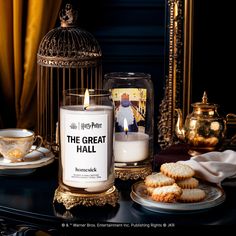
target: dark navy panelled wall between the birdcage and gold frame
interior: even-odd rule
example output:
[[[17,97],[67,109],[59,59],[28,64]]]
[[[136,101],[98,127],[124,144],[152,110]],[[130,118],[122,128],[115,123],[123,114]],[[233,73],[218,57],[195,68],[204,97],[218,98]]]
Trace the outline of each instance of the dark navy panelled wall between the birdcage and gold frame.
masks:
[[[81,0],[78,25],[92,33],[102,50],[103,75],[144,72],[154,86],[154,138],[165,85],[165,0]]]

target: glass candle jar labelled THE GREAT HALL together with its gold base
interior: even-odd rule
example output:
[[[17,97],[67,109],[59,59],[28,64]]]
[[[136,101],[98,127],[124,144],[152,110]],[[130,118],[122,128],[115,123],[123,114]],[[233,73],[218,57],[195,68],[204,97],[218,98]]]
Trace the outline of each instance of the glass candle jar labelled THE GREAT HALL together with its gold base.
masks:
[[[64,91],[59,119],[57,201],[66,202],[61,200],[65,192],[67,202],[69,195],[73,204],[99,205],[106,201],[110,203],[110,197],[115,199],[114,194],[107,198],[107,195],[115,192],[113,129],[114,108],[109,91]],[[99,203],[99,199],[103,202]],[[67,206],[70,207],[71,204]]]

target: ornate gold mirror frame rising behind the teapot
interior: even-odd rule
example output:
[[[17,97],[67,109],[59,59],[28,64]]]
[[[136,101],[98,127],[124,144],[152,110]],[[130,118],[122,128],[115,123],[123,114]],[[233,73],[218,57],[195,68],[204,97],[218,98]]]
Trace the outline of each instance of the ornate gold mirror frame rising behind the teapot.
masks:
[[[194,0],[166,0],[168,22],[168,72],[160,104],[158,143],[164,149],[175,140],[175,109],[189,113]]]

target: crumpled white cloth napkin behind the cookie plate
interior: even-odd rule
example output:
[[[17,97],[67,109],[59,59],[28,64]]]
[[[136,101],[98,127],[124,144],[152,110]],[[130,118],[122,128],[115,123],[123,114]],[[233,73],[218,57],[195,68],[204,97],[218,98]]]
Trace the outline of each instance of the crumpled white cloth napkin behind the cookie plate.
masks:
[[[208,152],[191,157],[187,161],[178,161],[192,167],[196,177],[212,183],[221,183],[225,178],[236,177],[236,152]]]

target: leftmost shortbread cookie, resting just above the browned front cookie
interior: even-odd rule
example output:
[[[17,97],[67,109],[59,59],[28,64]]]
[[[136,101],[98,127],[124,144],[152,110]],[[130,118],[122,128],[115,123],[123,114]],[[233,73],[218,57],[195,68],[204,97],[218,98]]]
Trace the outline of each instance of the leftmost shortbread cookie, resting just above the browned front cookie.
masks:
[[[173,178],[167,177],[162,173],[156,173],[146,176],[144,183],[148,187],[161,187],[166,185],[172,185],[175,182]]]

